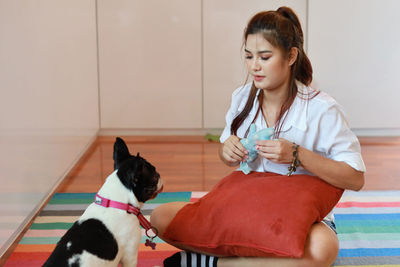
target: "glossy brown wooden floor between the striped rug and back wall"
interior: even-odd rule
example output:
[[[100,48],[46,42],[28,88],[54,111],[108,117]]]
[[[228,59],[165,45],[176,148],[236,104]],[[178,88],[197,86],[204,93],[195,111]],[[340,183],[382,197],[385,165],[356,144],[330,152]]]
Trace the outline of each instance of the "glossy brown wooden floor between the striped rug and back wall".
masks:
[[[220,144],[202,136],[123,137],[163,178],[164,191],[209,191],[235,168],[218,157]],[[114,137],[99,137],[57,192],[97,192],[113,171]],[[363,190],[400,190],[400,137],[360,138],[367,166]],[[132,154],[133,154],[132,153]]]

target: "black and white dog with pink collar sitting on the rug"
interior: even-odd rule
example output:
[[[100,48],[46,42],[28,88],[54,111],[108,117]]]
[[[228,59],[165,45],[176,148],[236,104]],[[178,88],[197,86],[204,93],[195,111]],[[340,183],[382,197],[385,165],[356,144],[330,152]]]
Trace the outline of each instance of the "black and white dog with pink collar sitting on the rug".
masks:
[[[113,158],[115,171],[95,202],[60,239],[43,266],[136,266],[143,219],[139,210],[161,192],[162,182],[153,165],[139,153],[132,156],[121,138],[114,143]]]

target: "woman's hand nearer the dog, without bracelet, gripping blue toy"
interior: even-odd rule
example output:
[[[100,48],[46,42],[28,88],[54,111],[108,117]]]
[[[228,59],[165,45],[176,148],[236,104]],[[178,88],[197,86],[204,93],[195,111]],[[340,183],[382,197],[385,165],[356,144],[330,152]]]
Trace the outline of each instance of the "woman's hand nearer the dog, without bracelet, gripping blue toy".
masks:
[[[229,136],[228,139],[222,144],[221,159],[229,166],[238,165],[241,161],[247,159],[247,150],[240,143],[239,137],[235,135]]]

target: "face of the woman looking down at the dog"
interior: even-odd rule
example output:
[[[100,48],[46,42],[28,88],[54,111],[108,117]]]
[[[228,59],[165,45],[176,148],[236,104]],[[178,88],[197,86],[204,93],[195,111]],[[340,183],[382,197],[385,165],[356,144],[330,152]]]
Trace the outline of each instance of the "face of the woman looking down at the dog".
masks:
[[[245,45],[246,65],[257,88],[288,90],[291,62],[262,34],[249,34]]]

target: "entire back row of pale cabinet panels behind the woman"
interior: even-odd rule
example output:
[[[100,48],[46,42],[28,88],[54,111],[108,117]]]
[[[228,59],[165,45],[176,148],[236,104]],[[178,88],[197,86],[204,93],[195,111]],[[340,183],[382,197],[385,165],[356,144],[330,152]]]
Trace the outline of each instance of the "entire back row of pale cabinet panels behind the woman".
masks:
[[[246,82],[244,28],[280,6],[300,18],[313,86],[351,127],[399,129],[397,0],[99,0],[101,128],[223,128]]]

